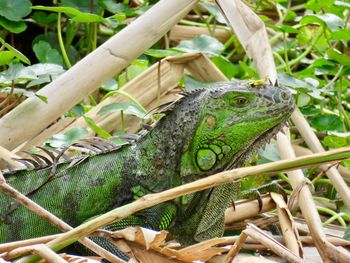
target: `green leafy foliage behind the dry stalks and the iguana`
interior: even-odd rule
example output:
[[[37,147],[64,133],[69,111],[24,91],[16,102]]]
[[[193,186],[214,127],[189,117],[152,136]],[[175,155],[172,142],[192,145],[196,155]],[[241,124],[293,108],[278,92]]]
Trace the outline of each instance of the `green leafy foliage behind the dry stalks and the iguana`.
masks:
[[[155,0],[0,0],[0,117],[26,97],[46,98],[36,92],[118,33],[154,5]],[[279,82],[291,89],[298,107],[326,149],[350,145],[350,3],[335,0],[246,1],[265,22],[270,35]],[[164,37],[121,74],[73,107],[66,116],[84,116],[99,101],[118,92],[159,59],[193,51],[206,53],[230,79],[255,79],[258,74],[234,35],[220,42],[217,30],[230,30],[211,1],[202,1],[179,24],[206,28],[207,35],[181,42]],[[184,29],[186,30],[186,29]],[[171,39],[170,39],[171,40]],[[127,44],[127,43],[126,43]],[[96,65],[101,66],[101,65]],[[78,76],[84,77],[84,76]],[[198,87],[191,76],[179,85]],[[122,111],[143,118],[145,109],[132,101],[114,103],[98,114]],[[43,113],[44,114],[44,113]],[[112,134],[85,117],[98,135]],[[124,132],[124,127],[116,131]],[[61,147],[86,135],[78,128],[55,135],[47,145]],[[295,133],[294,138],[298,138]],[[263,160],[278,158],[273,147],[261,152]],[[344,162],[350,167],[350,162]],[[327,179],[315,170],[308,176],[329,200],[336,200]],[[342,222],[340,222],[343,224]]]

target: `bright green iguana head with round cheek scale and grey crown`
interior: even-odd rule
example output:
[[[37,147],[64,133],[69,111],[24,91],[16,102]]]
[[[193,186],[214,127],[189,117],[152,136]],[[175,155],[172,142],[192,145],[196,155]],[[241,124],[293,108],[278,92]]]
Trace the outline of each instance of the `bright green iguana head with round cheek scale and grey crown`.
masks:
[[[194,138],[181,160],[181,176],[208,175],[233,168],[266,143],[290,117],[288,89],[220,83],[202,94]]]

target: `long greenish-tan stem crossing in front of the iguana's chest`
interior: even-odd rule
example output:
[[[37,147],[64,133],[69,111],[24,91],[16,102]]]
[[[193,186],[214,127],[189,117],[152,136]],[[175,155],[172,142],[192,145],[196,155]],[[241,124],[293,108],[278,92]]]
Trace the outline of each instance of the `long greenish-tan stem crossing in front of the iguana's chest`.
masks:
[[[62,234],[57,239],[49,242],[48,245],[54,250],[62,249],[63,247],[75,242],[79,238],[89,235],[98,228],[111,224],[112,222],[125,218],[126,216],[129,216],[145,208],[149,208],[162,202],[172,200],[181,195],[186,195],[204,189],[216,187],[218,185],[229,183],[233,180],[247,176],[278,173],[295,169],[296,167],[307,167],[320,163],[334,162],[335,160],[339,161],[346,158],[350,158],[350,147],[340,148],[325,153],[318,153],[312,156],[298,157],[291,160],[281,160],[274,163],[267,163],[254,167],[239,168],[231,171],[221,172],[163,192],[145,195],[133,203],[118,207],[110,212],[105,213],[102,216],[99,216],[74,228],[73,230],[70,230],[67,233]],[[24,257],[18,262],[28,262],[30,259],[30,257]]]

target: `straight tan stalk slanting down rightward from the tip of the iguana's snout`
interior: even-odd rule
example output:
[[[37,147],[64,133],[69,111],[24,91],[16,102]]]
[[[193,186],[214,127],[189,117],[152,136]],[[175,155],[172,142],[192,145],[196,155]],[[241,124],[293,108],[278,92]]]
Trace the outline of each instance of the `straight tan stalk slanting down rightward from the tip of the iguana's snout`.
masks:
[[[312,131],[309,123],[305,120],[299,109],[296,109],[293,112],[292,121],[297,126],[301,136],[304,138],[313,152],[324,152],[320,141]],[[341,177],[335,167],[323,166],[321,168],[326,171],[326,175],[331,180],[332,185],[337,190],[337,193],[340,195],[347,208],[350,209],[350,189],[345,183],[343,177]]]

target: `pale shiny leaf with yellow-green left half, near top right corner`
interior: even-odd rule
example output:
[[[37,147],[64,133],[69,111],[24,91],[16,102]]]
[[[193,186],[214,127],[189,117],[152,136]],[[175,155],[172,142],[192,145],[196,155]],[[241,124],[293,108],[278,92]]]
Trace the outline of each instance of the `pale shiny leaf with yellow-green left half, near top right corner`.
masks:
[[[334,14],[306,15],[300,20],[300,24],[319,24],[327,26],[332,32],[344,28],[343,20]]]

